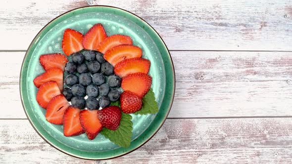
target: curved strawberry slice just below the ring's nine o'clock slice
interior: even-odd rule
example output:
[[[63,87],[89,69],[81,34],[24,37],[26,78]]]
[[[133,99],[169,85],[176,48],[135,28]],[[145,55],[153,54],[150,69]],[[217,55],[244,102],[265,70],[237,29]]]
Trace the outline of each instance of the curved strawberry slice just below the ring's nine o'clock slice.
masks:
[[[37,102],[41,107],[47,109],[49,101],[59,94],[61,94],[61,91],[56,82],[45,82],[37,92]]]

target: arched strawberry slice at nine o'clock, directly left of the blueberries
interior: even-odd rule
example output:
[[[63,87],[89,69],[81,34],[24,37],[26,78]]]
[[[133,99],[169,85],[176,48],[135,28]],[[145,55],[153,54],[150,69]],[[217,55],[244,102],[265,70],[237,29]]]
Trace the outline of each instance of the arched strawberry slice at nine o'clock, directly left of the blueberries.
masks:
[[[54,81],[59,85],[60,90],[63,90],[63,71],[59,68],[50,68],[42,75],[34,79],[36,87],[40,87],[43,83]]]

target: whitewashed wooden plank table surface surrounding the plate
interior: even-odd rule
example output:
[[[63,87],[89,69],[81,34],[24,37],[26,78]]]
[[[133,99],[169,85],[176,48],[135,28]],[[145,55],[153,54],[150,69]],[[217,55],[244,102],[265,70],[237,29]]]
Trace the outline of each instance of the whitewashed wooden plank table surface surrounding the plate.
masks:
[[[144,146],[86,161],[47,144],[28,122],[19,72],[34,36],[84,0],[1,0],[0,164],[292,163],[291,0],[95,0],[144,18],[176,71],[168,119]]]

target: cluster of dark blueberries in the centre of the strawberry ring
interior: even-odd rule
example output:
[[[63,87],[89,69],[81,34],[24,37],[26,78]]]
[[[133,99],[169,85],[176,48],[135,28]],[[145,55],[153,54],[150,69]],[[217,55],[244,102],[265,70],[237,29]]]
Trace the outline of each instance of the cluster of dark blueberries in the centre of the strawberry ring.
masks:
[[[122,79],[113,74],[113,66],[106,62],[103,54],[94,50],[83,50],[71,55],[65,67],[63,94],[71,105],[89,110],[104,108],[120,98]],[[85,100],[85,97],[87,99]]]

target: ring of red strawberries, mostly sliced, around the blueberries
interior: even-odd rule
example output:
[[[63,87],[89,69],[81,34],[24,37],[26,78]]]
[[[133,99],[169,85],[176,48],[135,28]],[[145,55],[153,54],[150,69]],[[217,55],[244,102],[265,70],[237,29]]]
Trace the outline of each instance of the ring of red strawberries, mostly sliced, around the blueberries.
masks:
[[[139,111],[143,105],[142,98],[150,89],[152,78],[148,75],[150,61],[141,58],[142,49],[132,44],[133,41],[129,36],[107,37],[100,23],[95,24],[85,36],[78,31],[66,29],[61,45],[65,55],[61,53],[41,55],[40,63],[46,72],[33,81],[35,86],[39,87],[36,95],[37,102],[41,107],[47,109],[45,115],[47,121],[63,124],[64,136],[86,133],[88,139],[93,140],[103,127],[111,130],[119,128],[121,110],[124,113]],[[80,110],[72,107],[62,94],[63,72],[68,62],[66,55],[69,56],[82,49],[97,50],[103,53],[103,58],[114,66],[114,73],[122,78],[121,88],[124,92],[120,95],[121,109],[117,106],[110,106],[101,110]],[[102,55],[97,57],[101,57],[103,60]],[[82,60],[78,59],[78,63],[82,63]],[[102,67],[102,69],[107,68]],[[69,99],[69,91],[64,94]],[[75,94],[73,89],[70,94]],[[122,136],[121,139],[123,137],[125,136]]]

